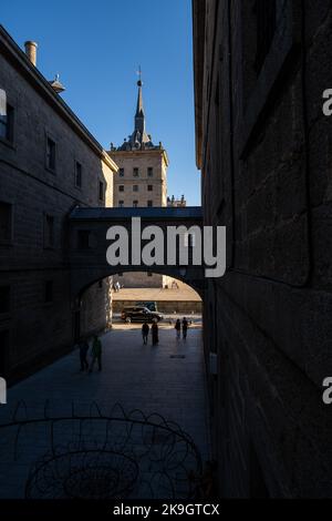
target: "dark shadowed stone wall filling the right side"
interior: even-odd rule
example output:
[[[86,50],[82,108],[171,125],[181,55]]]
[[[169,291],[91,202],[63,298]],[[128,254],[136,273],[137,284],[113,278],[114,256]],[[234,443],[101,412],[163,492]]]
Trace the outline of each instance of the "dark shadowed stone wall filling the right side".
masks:
[[[219,492],[332,497],[331,2],[193,8],[205,224],[228,234],[205,299]]]

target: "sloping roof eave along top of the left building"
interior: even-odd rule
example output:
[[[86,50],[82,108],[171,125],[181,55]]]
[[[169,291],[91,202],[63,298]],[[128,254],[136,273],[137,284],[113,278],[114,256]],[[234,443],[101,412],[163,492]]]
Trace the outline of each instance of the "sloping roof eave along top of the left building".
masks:
[[[43,74],[29,61],[24,51],[0,24],[0,53],[9,59],[13,67],[35,88],[41,96],[63,118],[63,120],[82,137],[82,140],[98,155],[114,172],[118,171],[115,162],[108,156],[103,146],[91,134],[70,106],[50,85]]]

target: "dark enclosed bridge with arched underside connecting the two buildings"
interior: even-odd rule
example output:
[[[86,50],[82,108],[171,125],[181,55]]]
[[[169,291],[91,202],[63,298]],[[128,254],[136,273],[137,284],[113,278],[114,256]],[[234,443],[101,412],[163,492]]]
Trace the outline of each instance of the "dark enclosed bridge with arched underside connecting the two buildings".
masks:
[[[107,239],[107,232],[111,227],[122,226],[128,233],[129,251],[128,257],[132,259],[132,225],[133,218],[141,218],[139,225],[142,234],[144,231],[148,232],[148,227],[158,226],[163,231],[164,236],[164,252],[165,259],[169,251],[169,242],[167,241],[167,232],[169,227],[185,226],[188,231],[193,226],[203,228],[203,214],[200,207],[187,208],[90,208],[76,207],[70,214],[70,266],[71,266],[71,295],[73,299],[80,296],[92,284],[105,277],[116,275],[120,272],[153,272],[160,275],[168,275],[178,278],[184,283],[191,286],[197,293],[203,296],[204,292],[204,267],[191,265],[193,246],[190,238],[194,235],[181,233],[179,242],[184,241],[187,244],[183,246],[188,248],[189,263],[184,265],[181,259],[177,256],[176,263],[172,266],[163,264],[154,264],[147,266],[143,263],[123,266],[111,266],[106,259],[106,252],[110,247],[110,239]],[[149,228],[151,229],[151,228]],[[196,228],[197,229],[197,228]],[[142,246],[148,244],[149,241],[142,241]],[[136,251],[137,244],[134,244]]]

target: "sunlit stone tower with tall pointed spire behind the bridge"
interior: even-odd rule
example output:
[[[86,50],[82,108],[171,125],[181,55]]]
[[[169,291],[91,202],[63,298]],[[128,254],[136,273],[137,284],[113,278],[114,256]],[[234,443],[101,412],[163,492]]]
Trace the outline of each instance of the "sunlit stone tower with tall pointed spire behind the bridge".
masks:
[[[141,80],[137,86],[134,132],[118,149],[112,145],[108,152],[118,166],[114,176],[114,206],[164,207],[167,206],[168,156],[163,144],[154,145],[146,133]],[[125,287],[163,287],[165,279],[157,274],[127,273],[114,277],[114,282]]]

